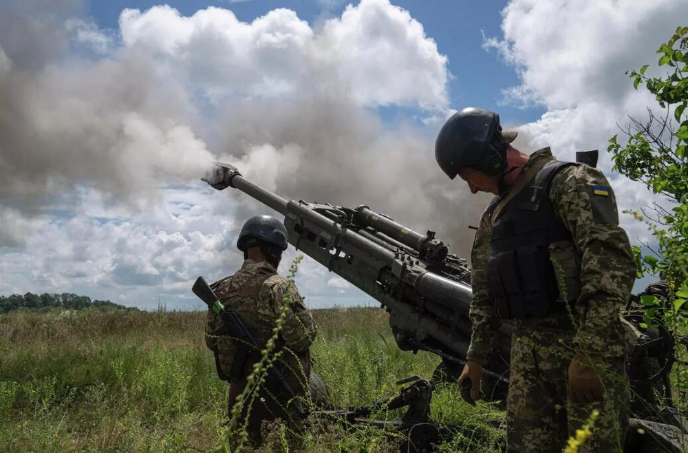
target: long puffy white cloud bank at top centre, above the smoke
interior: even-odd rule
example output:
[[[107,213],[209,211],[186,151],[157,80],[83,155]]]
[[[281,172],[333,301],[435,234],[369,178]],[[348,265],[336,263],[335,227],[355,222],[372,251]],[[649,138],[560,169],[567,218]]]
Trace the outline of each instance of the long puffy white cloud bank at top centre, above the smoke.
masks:
[[[447,107],[447,59],[422,25],[388,0],[363,0],[314,30],[292,10],[251,23],[222,8],[191,17],[169,6],[120,15],[122,41],[206,96],[276,96],[299,90],[345,92],[361,105]]]

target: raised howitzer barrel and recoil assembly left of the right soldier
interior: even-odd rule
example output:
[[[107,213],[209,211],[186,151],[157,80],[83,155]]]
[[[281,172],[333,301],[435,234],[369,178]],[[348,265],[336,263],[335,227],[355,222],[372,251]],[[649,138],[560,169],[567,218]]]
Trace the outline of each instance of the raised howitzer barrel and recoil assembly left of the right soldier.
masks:
[[[400,349],[432,352],[442,359],[438,376],[458,377],[471,339],[471,271],[433,231],[417,233],[367,206],[289,201],[224,163],[203,180],[239,189],[284,215],[290,244],[385,307]],[[484,371],[488,398],[506,394],[512,331],[505,323],[495,339]]]

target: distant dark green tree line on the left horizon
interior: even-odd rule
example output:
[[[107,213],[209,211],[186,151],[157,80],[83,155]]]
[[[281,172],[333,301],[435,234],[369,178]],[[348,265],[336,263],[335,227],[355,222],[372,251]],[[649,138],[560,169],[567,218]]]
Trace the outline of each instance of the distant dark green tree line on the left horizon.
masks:
[[[90,297],[72,293],[41,295],[26,293],[0,296],[0,313],[16,310],[50,311],[50,310],[138,310],[115,304],[109,300],[91,300]]]

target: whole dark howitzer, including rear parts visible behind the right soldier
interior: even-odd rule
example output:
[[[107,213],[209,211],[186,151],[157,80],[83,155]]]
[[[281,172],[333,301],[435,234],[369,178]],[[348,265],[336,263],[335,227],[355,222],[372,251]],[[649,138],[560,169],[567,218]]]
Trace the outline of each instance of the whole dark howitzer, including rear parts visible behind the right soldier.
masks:
[[[400,349],[425,350],[442,359],[433,380],[458,377],[471,339],[470,268],[433,231],[417,233],[367,206],[289,201],[246,180],[233,165],[217,163],[213,175],[202,179],[218,190],[239,189],[284,215],[290,244],[382,304]],[[629,320],[641,325],[637,315]],[[504,322],[495,336],[482,379],[488,401],[506,396],[512,333],[513,325]],[[680,434],[688,431],[671,407],[673,347],[667,330],[645,328],[631,356],[630,407],[638,417],[631,425],[648,433],[633,439],[640,448],[645,439],[656,437],[668,439],[667,450],[680,451]],[[669,407],[660,408],[657,394],[664,394],[661,402]]]

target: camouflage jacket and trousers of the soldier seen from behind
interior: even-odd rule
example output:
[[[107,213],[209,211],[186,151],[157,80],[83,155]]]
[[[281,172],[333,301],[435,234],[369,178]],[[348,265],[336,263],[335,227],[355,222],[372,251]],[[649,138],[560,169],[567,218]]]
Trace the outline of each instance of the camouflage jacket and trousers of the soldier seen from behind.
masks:
[[[261,349],[273,335],[277,319],[286,310],[286,317],[277,338],[277,366],[286,375],[287,383],[297,394],[297,399],[306,403],[309,394],[310,352],[309,348],[316,336],[316,325],[303,297],[296,286],[286,278],[276,274],[275,267],[268,262],[246,260],[235,275],[226,277],[211,285],[220,302],[241,316],[246,327]],[[215,313],[208,311],[206,324],[206,345],[217,348],[222,372],[233,375],[228,410],[231,411],[237,394],[244,390],[246,377],[253,365],[259,361],[261,350],[250,350],[244,364],[233,364],[238,340],[226,335],[226,328]],[[246,347],[246,345],[244,345]],[[233,368],[240,367],[238,370]],[[234,373],[233,373],[234,372]],[[242,386],[243,383],[243,386]],[[303,421],[293,417],[286,409],[287,401],[279,390],[266,384],[259,390],[255,403],[248,416],[248,429],[252,436],[259,437],[262,421],[276,418],[290,422],[292,428],[302,430]]]

